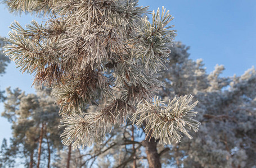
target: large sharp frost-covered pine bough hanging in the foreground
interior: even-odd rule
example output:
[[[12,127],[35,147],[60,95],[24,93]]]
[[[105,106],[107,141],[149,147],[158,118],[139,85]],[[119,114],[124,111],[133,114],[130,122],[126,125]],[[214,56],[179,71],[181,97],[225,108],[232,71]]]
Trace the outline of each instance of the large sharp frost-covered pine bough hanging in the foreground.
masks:
[[[172,97],[166,104],[154,97],[163,86],[159,72],[167,69],[175,32],[164,8],[141,17],[147,7],[136,0],[8,1],[14,10],[48,15],[44,24],[18,22],[5,53],[34,82],[52,87],[61,106],[62,142],[73,148],[104,143],[116,123],[145,130],[145,146],[179,142],[200,123],[192,96]],[[95,105],[88,111],[89,105]],[[43,125],[42,125],[43,127]],[[191,131],[190,131],[191,132]],[[150,141],[151,140],[151,141]],[[149,142],[150,141],[150,142]],[[159,160],[149,155],[150,167]]]

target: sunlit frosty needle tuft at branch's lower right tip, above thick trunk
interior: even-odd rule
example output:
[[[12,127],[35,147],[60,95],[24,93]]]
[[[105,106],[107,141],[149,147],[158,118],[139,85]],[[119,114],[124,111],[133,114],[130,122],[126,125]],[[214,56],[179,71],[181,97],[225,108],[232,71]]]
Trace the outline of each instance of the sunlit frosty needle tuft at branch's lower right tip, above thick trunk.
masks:
[[[154,97],[154,101],[142,100],[137,105],[137,111],[133,114],[132,122],[138,128],[145,123],[145,132],[147,136],[159,139],[159,143],[170,144],[172,141],[180,142],[182,134],[192,138],[188,130],[197,132],[200,125],[197,120],[192,119],[197,112],[193,111],[197,104],[192,101],[191,95],[174,97],[165,105],[159,97]],[[147,138],[146,136],[146,138]]]

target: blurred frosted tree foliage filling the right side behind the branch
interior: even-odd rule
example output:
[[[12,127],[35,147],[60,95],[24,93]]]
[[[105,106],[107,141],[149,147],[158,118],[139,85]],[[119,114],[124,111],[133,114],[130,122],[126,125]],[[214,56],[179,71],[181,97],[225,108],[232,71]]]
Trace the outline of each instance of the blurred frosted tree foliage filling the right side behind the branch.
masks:
[[[176,49],[186,53],[181,43],[176,44]],[[184,59],[184,54],[178,55],[177,62],[167,66],[169,86],[161,95],[169,99],[169,96],[193,94],[200,102],[195,110],[202,124],[192,141],[185,138],[171,148],[177,164],[184,167],[255,166],[252,159],[256,155],[254,67],[241,77],[220,77],[223,66],[217,65],[213,72],[206,74],[201,60],[194,62]]]

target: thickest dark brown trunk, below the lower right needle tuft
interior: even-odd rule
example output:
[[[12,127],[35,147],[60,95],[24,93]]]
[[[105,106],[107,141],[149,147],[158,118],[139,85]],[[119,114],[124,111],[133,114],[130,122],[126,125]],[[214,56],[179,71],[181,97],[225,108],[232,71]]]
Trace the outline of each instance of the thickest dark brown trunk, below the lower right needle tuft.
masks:
[[[158,142],[155,142],[155,138],[151,138],[149,142],[149,138],[142,141],[142,145],[145,147],[147,154],[147,161],[149,162],[149,168],[160,168],[160,155],[156,148]]]

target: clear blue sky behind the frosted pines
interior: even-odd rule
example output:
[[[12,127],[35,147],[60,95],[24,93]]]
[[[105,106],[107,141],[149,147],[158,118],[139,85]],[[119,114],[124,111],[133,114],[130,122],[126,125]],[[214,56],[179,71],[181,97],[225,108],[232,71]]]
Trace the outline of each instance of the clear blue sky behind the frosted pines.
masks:
[[[256,66],[256,1],[255,0],[141,0],[142,6],[157,10],[164,6],[174,16],[172,22],[177,30],[176,40],[191,46],[190,58],[202,58],[207,71],[215,64],[224,64],[223,76],[241,75],[251,66]],[[0,35],[7,36],[8,26],[17,20],[28,24],[30,15],[14,16],[0,4]],[[35,18],[38,20],[37,18]],[[21,74],[14,63],[0,77],[0,89],[20,87],[27,93],[34,92],[32,76]],[[0,104],[3,111],[3,104]],[[10,124],[0,117],[0,143],[11,135]]]

